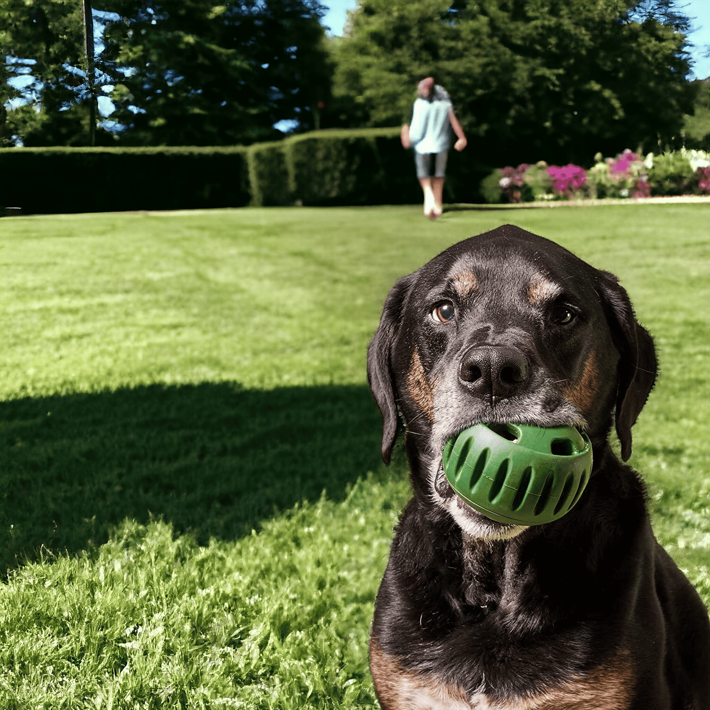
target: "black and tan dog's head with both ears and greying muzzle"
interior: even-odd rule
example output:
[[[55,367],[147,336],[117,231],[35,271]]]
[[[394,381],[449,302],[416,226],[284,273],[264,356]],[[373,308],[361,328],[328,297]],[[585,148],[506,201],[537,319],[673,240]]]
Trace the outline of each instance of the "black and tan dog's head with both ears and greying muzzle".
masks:
[[[506,225],[454,244],[395,283],[368,350],[388,462],[398,415],[414,452],[415,494],[476,537],[510,537],[458,498],[442,469],[447,439],[479,422],[576,426],[621,453],[655,382],[648,332],[615,276]],[[411,456],[410,456],[411,457]]]

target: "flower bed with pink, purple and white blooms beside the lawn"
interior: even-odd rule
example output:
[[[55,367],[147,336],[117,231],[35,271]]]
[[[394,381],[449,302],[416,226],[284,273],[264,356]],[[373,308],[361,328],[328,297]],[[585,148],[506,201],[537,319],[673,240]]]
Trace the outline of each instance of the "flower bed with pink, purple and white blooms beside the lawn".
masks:
[[[616,158],[594,156],[596,164],[523,163],[493,170],[481,183],[486,202],[634,199],[655,195],[710,195],[710,153],[687,151],[642,155],[628,148]]]

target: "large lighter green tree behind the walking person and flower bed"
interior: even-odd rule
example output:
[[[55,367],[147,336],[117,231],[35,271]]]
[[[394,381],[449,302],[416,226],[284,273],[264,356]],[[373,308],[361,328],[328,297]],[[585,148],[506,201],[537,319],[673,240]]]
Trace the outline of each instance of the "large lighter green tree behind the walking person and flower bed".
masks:
[[[396,125],[434,75],[493,165],[657,149],[692,107],[679,17],[670,0],[361,0],[334,48],[334,94]]]

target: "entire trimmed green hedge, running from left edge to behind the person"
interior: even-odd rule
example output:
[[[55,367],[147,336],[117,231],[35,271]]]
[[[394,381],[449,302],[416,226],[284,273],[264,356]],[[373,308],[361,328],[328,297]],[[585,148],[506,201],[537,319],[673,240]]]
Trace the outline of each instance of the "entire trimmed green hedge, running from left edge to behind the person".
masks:
[[[480,201],[491,168],[450,151],[444,199]],[[329,129],[253,146],[5,148],[0,205],[23,213],[272,205],[415,204],[398,128]]]

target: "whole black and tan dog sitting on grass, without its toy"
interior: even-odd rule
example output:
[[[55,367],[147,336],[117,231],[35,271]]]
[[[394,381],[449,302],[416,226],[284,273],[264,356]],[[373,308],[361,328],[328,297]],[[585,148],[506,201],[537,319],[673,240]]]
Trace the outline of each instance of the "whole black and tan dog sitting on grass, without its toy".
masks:
[[[608,444],[616,425],[628,459],[656,376],[611,273],[515,226],[466,239],[395,284],[368,376],[383,459],[400,415],[414,488],[372,627],[385,710],[710,709],[706,610]],[[461,501],[442,449],[479,422],[586,431],[577,506],[526,528]]]

